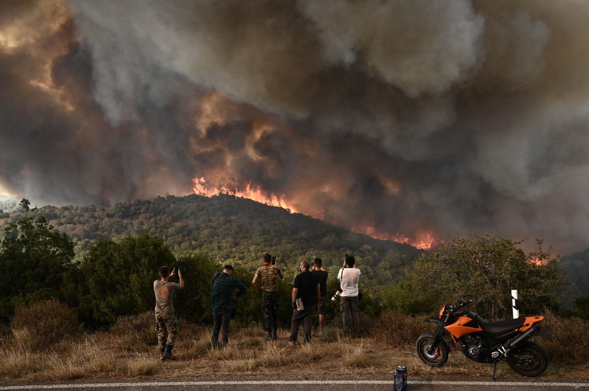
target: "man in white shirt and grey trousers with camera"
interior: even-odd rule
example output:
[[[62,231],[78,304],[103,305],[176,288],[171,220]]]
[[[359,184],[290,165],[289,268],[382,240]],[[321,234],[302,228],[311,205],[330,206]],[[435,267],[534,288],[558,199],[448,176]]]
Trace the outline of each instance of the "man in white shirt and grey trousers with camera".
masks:
[[[342,312],[343,334],[350,335],[350,316],[354,327],[352,337],[360,337],[360,306],[358,280],[360,279],[360,269],[356,266],[356,259],[346,254],[343,262],[343,268],[337,273],[340,280],[342,294],[339,297],[339,310]]]

